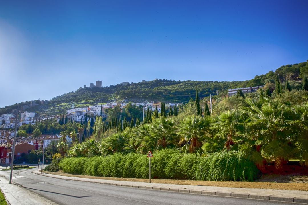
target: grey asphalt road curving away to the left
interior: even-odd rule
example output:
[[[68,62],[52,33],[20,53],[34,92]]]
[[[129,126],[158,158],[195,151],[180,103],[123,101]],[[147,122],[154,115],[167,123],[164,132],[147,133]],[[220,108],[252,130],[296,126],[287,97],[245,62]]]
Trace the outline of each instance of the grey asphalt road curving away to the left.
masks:
[[[37,169],[37,168],[36,168]],[[176,205],[282,205],[295,204],[269,200],[242,199],[222,196],[208,196],[170,191],[119,187],[89,182],[56,179],[31,173],[35,169],[17,170],[12,181],[60,205],[138,205],[138,204],[176,204]],[[1,171],[9,178],[9,171]]]

